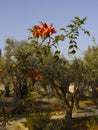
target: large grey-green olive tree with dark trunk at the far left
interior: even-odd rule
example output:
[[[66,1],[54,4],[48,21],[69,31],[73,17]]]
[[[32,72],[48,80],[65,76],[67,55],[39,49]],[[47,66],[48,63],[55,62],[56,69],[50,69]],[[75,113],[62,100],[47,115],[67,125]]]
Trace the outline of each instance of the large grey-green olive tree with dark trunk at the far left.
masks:
[[[26,95],[29,86],[33,86],[34,81],[29,78],[29,73],[36,69],[36,56],[33,46],[27,41],[6,40],[4,68],[2,82],[5,85],[5,96],[9,95],[9,90],[14,90],[15,99],[20,99]]]

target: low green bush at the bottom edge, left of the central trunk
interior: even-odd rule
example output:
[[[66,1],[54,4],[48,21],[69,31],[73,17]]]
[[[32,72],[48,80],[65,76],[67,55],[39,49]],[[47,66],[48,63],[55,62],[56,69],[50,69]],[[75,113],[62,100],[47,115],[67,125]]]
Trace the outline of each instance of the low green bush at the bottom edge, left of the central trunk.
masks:
[[[49,113],[34,113],[28,116],[27,127],[29,130],[63,130],[65,124],[62,120],[50,119]]]

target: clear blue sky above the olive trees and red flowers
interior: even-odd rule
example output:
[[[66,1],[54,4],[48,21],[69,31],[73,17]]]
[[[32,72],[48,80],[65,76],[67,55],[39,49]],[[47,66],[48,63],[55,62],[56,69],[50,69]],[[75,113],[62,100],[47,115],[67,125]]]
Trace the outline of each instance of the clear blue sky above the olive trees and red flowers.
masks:
[[[66,26],[75,16],[87,16],[85,28],[91,37],[81,35],[78,46],[83,52],[92,45],[92,37],[98,40],[98,0],[0,0],[0,48],[5,40],[27,39],[28,28],[40,21],[53,23],[56,30]],[[59,48],[66,54],[68,43],[61,43]]]

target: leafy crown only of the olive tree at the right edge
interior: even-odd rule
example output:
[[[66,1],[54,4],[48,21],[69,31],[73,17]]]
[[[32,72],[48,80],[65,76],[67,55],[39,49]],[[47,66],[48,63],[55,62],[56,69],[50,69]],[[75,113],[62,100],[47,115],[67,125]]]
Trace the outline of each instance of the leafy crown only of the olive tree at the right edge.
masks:
[[[88,47],[84,53],[84,64],[87,71],[86,79],[89,85],[97,85],[98,79],[98,46]]]

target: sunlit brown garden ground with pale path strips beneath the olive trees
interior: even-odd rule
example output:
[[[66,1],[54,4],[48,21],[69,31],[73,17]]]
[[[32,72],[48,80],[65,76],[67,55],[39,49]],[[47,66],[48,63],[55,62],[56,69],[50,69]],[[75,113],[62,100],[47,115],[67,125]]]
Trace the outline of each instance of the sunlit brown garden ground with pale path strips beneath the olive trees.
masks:
[[[58,99],[57,99],[58,100]],[[55,122],[56,124],[59,124],[60,122],[65,123],[64,120],[64,112],[65,108],[62,107],[62,105],[58,104],[56,99],[50,100],[45,99],[44,101],[36,101],[36,106],[39,109],[44,110],[50,110],[51,111],[51,118],[50,120],[52,122]],[[12,99],[11,98],[4,98],[4,103],[7,105],[11,105]],[[59,102],[60,103],[60,102]],[[92,103],[92,100],[82,100],[80,101],[80,110],[73,111],[73,119],[72,119],[72,128],[69,128],[68,130],[89,130],[87,129],[87,126],[90,126],[90,122],[92,125],[97,125],[98,119],[96,118],[98,115],[98,109],[95,108],[95,106]],[[95,120],[94,120],[95,119]],[[26,125],[26,119],[22,117],[22,115],[18,115],[17,120],[11,121],[11,126],[7,125],[7,129],[10,130],[10,128],[14,127],[16,123],[22,122]],[[95,124],[96,122],[96,124]],[[67,124],[66,124],[67,125]],[[68,126],[69,127],[69,126]],[[98,127],[94,130],[98,130]],[[0,127],[0,130],[4,130],[2,126]],[[14,129],[13,129],[14,130]]]

